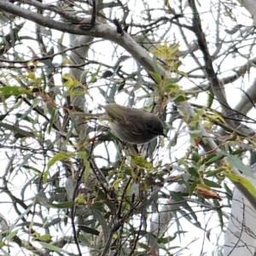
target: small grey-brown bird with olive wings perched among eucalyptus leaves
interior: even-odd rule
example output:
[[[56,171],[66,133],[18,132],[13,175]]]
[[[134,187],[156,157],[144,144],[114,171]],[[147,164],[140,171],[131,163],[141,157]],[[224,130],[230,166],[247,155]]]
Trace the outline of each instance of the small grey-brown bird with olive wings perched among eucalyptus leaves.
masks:
[[[115,103],[100,107],[107,112],[113,135],[125,143],[143,144],[158,136],[166,137],[163,122],[154,113]]]

